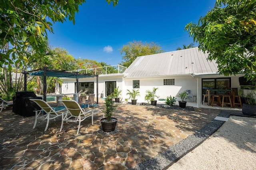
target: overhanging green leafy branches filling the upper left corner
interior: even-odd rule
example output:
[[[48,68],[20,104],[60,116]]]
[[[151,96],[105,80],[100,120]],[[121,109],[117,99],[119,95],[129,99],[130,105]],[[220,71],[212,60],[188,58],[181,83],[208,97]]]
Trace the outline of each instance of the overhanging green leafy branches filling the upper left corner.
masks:
[[[118,0],[106,0],[113,2]],[[33,57],[47,51],[47,32],[52,24],[66,20],[75,23],[78,7],[85,0],[1,0],[0,1],[0,66],[18,60],[28,62],[26,49],[34,50]],[[11,56],[11,57],[10,57]],[[9,70],[11,66],[9,65]]]

